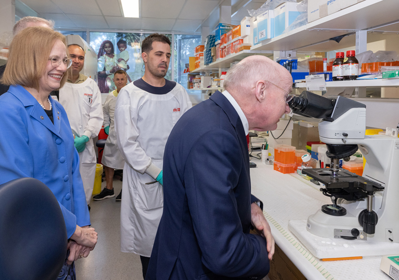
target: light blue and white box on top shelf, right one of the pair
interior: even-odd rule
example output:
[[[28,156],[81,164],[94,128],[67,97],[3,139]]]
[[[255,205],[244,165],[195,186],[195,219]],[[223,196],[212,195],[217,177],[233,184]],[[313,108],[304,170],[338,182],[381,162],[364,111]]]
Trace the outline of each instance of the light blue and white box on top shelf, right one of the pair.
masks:
[[[276,7],[274,9],[274,36],[281,35],[299,14],[297,3],[295,2],[285,2]]]

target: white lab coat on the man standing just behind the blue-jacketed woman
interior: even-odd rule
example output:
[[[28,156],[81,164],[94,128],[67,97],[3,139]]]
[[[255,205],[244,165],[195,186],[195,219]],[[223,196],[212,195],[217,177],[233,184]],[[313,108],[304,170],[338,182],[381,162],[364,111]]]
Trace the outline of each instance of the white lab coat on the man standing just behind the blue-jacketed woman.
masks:
[[[89,138],[86,148],[79,153],[79,171],[82,176],[87,204],[90,203],[96,175],[96,152],[93,138],[97,137],[103,124],[101,93],[96,82],[87,78],[83,83],[65,83],[59,90],[59,102],[68,115],[72,133],[76,137]]]

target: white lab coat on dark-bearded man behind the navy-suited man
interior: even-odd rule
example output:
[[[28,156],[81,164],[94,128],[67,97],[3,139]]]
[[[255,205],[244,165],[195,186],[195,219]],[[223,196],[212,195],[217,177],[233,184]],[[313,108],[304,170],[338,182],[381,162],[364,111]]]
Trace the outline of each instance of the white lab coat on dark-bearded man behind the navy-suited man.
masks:
[[[166,141],[184,112],[192,107],[176,84],[167,94],[151,94],[133,83],[119,92],[115,108],[118,147],[125,158],[121,205],[121,251],[150,257],[164,206],[163,187],[145,173],[162,169]]]

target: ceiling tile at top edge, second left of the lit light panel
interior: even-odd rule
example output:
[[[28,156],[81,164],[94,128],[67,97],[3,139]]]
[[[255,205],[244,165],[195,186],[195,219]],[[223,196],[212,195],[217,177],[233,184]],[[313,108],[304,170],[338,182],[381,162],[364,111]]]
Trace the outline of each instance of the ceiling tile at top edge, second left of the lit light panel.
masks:
[[[64,13],[101,15],[95,0],[52,0]]]

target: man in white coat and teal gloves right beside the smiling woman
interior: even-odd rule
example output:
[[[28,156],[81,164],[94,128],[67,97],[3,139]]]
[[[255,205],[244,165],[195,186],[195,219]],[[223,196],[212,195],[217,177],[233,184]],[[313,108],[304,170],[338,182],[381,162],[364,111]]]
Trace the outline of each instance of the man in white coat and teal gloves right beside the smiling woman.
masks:
[[[59,91],[59,102],[64,106],[79,152],[79,170],[83,180],[86,202],[89,205],[96,175],[96,153],[93,138],[103,125],[101,93],[96,82],[80,73],[84,66],[84,50],[77,44],[68,46],[72,58],[72,77]],[[90,210],[90,207],[89,207]]]

